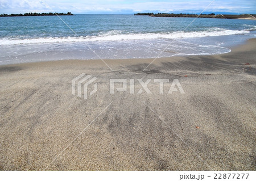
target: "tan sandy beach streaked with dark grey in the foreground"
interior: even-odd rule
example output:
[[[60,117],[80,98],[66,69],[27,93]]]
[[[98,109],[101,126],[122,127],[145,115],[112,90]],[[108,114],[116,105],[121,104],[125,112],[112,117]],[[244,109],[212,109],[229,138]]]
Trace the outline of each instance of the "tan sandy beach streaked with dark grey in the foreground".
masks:
[[[0,170],[255,170],[255,47],[145,71],[152,58],[0,66]],[[98,78],[87,100],[71,94],[81,73]],[[178,79],[185,94],[110,94],[113,78]]]

